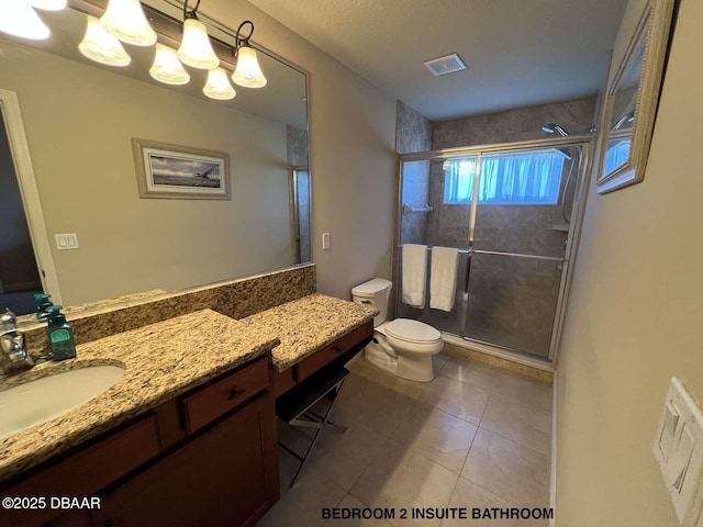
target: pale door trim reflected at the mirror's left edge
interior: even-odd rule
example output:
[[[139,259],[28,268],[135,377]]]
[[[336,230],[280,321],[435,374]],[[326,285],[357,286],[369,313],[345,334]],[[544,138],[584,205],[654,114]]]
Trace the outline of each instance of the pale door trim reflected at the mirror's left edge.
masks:
[[[52,295],[55,304],[63,304],[62,292],[58,287],[58,276],[54,267],[52,247],[46,232],[46,222],[42,212],[40,192],[34,179],[34,167],[30,156],[30,147],[24,134],[22,113],[20,112],[20,101],[14,91],[0,89],[0,113],[4,120],[10,152],[14,162],[14,170],[20,184],[20,194],[26,223],[30,227],[30,237],[34,247],[34,257],[40,269],[40,278],[44,291]]]

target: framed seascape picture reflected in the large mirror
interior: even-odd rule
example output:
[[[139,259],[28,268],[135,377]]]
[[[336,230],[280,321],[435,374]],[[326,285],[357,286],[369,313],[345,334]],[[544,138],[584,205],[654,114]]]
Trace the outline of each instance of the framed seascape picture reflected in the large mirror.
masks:
[[[230,156],[221,152],[132,139],[142,198],[228,200]]]

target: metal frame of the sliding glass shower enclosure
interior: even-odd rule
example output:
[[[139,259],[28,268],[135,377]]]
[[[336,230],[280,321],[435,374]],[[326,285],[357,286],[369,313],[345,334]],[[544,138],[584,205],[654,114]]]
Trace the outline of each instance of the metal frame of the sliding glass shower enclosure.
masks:
[[[585,199],[588,195],[588,184],[590,181],[590,175],[592,171],[592,166],[594,161],[594,149],[595,149],[595,137],[592,135],[574,135],[568,137],[558,137],[558,138],[546,138],[546,139],[536,139],[536,141],[523,141],[515,143],[500,143],[492,145],[477,145],[470,147],[459,147],[459,148],[444,148],[438,150],[427,150],[413,154],[401,154],[398,156],[398,171],[397,171],[397,189],[398,189],[398,200],[395,203],[395,244],[393,251],[393,282],[399,283],[399,277],[401,273],[400,269],[400,242],[401,242],[401,228],[402,228],[402,218],[403,218],[403,168],[405,161],[432,161],[432,160],[445,160],[451,158],[460,158],[468,156],[477,156],[478,164],[475,176],[475,184],[473,184],[473,199],[471,201],[471,211],[470,211],[470,224],[468,228],[467,235],[467,247],[469,258],[471,255],[477,254],[495,254],[495,251],[484,251],[484,250],[476,250],[473,249],[473,238],[475,238],[475,228],[476,228],[476,216],[478,210],[478,180],[480,177],[480,159],[481,156],[487,154],[505,154],[511,152],[525,150],[529,148],[565,148],[565,147],[580,147],[581,155],[579,157],[579,165],[577,168],[577,184],[574,189],[573,195],[573,205],[571,213],[571,221],[569,223],[569,231],[566,242],[566,248],[563,253],[563,258],[550,258],[544,257],[545,259],[554,259],[561,261],[563,269],[561,271],[561,279],[559,283],[559,293],[557,298],[557,305],[555,311],[555,317],[551,329],[551,339],[549,344],[549,355],[546,359],[538,358],[536,356],[532,356],[528,354],[522,354],[514,349],[510,349],[496,344],[487,343],[483,340],[473,339],[467,337],[465,335],[454,335],[454,334],[445,334],[455,336],[457,339],[464,343],[472,343],[478,345],[480,351],[487,352],[489,355],[495,355],[499,357],[507,358],[511,360],[516,360],[522,363],[526,363],[529,366],[535,366],[540,369],[553,370],[556,366],[558,359],[559,344],[561,338],[561,330],[563,326],[566,305],[569,294],[569,289],[572,280],[572,268],[576,262],[577,257],[577,248],[578,242],[581,234],[581,225],[583,221],[583,212],[585,209]],[[467,251],[467,250],[465,250]],[[501,253],[502,255],[510,256],[511,254]],[[512,256],[521,256],[527,257],[527,255],[512,255]],[[470,265],[470,264],[468,264]],[[467,280],[468,288],[468,280]],[[399,302],[399,291],[395,291],[395,303],[394,307],[398,309]],[[462,327],[466,325],[466,319],[462,321]],[[464,332],[461,332],[464,333]]]

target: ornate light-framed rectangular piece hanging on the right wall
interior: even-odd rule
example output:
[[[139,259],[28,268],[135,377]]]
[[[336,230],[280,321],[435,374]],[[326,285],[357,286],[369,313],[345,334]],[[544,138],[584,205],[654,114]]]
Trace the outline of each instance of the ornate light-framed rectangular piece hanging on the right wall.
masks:
[[[599,194],[645,179],[674,0],[648,0],[605,92],[600,119]],[[613,57],[615,58],[615,57]]]

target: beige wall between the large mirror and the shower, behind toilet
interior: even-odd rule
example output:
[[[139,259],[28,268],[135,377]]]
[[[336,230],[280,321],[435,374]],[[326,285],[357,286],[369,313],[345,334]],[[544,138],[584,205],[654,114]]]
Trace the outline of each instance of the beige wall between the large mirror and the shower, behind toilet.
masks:
[[[390,278],[393,239],[395,100],[248,2],[209,0],[201,10],[236,27],[310,74],[312,247],[319,291],[350,298],[350,288]],[[332,250],[321,248],[332,234]]]

